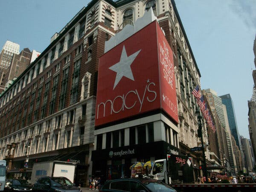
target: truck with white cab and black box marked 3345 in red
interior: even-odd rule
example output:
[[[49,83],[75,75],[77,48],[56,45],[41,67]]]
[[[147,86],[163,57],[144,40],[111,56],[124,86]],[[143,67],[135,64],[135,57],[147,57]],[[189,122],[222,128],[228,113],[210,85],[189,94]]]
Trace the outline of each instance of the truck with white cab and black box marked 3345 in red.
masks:
[[[155,160],[150,177],[166,184],[193,183],[192,159],[188,156],[167,154],[166,159]]]

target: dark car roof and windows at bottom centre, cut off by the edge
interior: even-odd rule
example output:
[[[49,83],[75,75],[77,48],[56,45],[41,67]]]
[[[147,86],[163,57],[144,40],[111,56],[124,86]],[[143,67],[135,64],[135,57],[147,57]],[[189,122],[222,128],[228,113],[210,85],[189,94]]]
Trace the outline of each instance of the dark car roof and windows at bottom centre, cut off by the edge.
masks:
[[[148,178],[108,180],[99,192],[176,192],[162,181]]]

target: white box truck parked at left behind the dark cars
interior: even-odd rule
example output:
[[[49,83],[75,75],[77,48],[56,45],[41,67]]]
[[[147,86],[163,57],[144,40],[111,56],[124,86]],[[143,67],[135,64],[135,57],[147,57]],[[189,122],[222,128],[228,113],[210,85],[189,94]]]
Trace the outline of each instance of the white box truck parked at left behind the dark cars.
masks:
[[[31,183],[34,184],[40,177],[67,177],[70,181],[74,182],[75,179],[76,163],[66,161],[46,161],[34,163]]]

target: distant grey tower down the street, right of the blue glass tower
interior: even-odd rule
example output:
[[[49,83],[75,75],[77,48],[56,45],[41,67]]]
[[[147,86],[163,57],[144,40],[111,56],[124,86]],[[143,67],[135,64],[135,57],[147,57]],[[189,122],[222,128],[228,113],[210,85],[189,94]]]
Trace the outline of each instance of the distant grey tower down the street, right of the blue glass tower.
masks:
[[[241,139],[241,144],[242,144],[242,149],[243,149],[243,153],[244,153],[244,164],[245,164],[245,168],[247,169],[247,173],[249,172],[253,172],[253,156],[251,154],[251,150],[250,150],[250,144],[248,139],[244,138],[244,137],[240,137]]]

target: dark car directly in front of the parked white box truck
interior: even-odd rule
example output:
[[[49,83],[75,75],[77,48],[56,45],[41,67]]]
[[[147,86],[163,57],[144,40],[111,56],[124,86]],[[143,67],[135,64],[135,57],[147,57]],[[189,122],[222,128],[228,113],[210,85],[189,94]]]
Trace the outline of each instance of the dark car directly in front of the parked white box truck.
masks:
[[[33,192],[82,192],[66,177],[41,177],[33,185]]]

